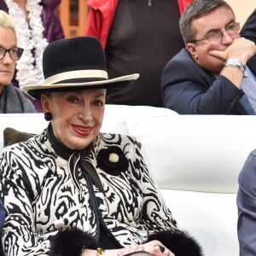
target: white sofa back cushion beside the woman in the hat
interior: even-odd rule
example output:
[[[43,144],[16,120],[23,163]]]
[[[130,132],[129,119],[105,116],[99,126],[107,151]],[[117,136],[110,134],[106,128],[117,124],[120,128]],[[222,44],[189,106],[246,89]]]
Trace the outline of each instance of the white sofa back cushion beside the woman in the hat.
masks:
[[[255,125],[246,115],[173,115],[142,119],[130,133],[160,189],[236,193]]]

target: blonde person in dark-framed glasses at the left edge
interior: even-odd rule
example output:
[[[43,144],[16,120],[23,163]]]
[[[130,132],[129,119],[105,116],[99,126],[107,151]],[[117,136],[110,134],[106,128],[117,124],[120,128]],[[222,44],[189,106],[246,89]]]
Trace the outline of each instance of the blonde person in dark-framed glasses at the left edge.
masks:
[[[0,113],[36,112],[32,102],[11,84],[16,62],[22,53],[23,49],[17,46],[14,23],[0,10]]]

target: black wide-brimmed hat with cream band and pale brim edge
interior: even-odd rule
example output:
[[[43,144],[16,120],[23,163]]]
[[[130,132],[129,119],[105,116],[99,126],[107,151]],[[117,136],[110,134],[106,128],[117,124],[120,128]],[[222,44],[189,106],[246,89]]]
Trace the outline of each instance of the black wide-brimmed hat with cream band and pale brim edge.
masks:
[[[102,44],[96,38],[79,37],[57,40],[43,55],[44,84],[23,86],[27,94],[39,99],[42,93],[116,88],[130,86],[139,74],[108,79],[107,61]]]

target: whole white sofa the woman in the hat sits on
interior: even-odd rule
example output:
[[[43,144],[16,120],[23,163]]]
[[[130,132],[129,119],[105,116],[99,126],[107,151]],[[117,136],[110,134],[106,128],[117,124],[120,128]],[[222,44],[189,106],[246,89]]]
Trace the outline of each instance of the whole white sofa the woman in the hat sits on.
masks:
[[[40,132],[42,113],[0,114],[4,127]],[[237,177],[256,148],[254,116],[178,115],[166,108],[106,106],[102,131],[130,134],[166,203],[206,256],[238,256]]]

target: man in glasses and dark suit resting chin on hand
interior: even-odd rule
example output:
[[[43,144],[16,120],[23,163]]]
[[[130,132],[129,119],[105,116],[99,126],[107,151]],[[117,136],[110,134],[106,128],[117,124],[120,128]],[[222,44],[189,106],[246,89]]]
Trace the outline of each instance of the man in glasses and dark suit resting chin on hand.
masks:
[[[163,71],[164,106],[184,114],[255,114],[256,47],[230,5],[195,0],[180,19],[185,49]]]

